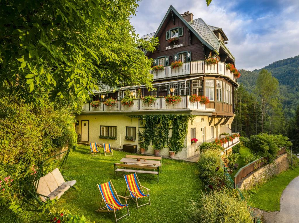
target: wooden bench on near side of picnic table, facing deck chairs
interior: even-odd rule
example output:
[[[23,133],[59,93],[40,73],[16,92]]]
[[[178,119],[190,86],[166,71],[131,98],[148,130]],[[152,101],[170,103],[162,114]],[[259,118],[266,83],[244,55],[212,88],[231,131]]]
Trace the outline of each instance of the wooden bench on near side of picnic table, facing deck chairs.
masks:
[[[138,168],[139,170],[133,170],[131,168]],[[140,170],[140,169],[142,169],[142,170]],[[158,171],[155,171],[155,170],[158,170]],[[114,179],[116,179],[117,172],[156,174],[156,175],[158,175],[158,182],[159,182],[159,167],[158,166],[143,166],[143,165],[141,166],[141,165],[133,165],[133,164],[114,163]]]

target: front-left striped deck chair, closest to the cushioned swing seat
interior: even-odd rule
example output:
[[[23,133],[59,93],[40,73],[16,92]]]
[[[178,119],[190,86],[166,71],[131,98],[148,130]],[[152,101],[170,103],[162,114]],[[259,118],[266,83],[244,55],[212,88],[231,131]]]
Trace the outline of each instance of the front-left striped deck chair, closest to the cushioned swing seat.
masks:
[[[103,183],[101,185],[97,185],[97,187],[99,188],[100,194],[102,195],[102,201],[101,201],[101,204],[100,204],[100,208],[98,210],[96,210],[97,212],[104,212],[104,211],[110,212],[110,211],[113,211],[116,223],[119,219],[122,219],[124,216],[127,216],[127,215],[130,216],[129,207],[128,207],[128,203],[127,203],[128,198],[117,195],[111,181]],[[126,201],[125,205],[120,203],[119,196],[125,199],[125,201]],[[104,203],[104,206],[102,207],[103,203]],[[120,210],[124,207],[127,208],[128,213],[126,213],[124,216],[117,219],[115,211],[118,211],[118,210]]]

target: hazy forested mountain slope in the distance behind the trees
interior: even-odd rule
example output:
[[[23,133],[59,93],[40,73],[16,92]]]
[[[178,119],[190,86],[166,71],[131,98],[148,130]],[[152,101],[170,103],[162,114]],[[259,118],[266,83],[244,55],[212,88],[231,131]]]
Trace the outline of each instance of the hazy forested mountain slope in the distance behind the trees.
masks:
[[[287,119],[295,116],[299,104],[299,55],[276,61],[262,69],[267,69],[278,79],[280,85],[280,100]],[[239,83],[243,83],[248,92],[253,92],[259,72],[262,70],[240,70]]]

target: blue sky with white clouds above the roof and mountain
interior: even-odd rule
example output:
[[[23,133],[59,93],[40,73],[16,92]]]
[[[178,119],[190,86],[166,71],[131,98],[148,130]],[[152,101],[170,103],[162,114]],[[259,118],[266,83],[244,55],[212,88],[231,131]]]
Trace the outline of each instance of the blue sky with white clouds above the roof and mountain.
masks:
[[[299,55],[299,0],[143,0],[132,25],[140,36],[158,29],[170,4],[221,27],[238,69],[254,70]]]

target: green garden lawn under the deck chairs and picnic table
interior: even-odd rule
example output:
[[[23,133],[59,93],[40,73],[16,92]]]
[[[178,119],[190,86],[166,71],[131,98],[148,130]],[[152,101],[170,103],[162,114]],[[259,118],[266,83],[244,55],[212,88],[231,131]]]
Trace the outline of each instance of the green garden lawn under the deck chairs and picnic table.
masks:
[[[88,151],[89,147],[79,145],[69,154],[65,175],[77,180],[77,191],[72,188],[66,191],[55,207],[57,210],[68,209],[73,214],[84,215],[87,222],[115,222],[113,213],[95,212],[101,201],[97,184],[111,180],[117,193],[124,196],[126,183],[122,173],[114,179],[113,163],[119,162],[126,153],[114,151],[113,157],[91,157],[86,154]],[[195,163],[163,159],[159,182],[156,175],[138,174],[141,185],[150,189],[151,206],[145,205],[137,210],[135,201],[128,200],[130,216],[126,216],[120,222],[183,222],[187,202],[198,198],[203,189],[197,173],[198,167]],[[120,200],[124,203],[122,198]],[[144,198],[138,203],[147,202],[148,199]],[[120,210],[117,217],[124,213],[126,210]],[[0,210],[0,222],[21,222],[15,217],[8,210]]]

